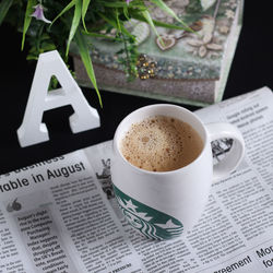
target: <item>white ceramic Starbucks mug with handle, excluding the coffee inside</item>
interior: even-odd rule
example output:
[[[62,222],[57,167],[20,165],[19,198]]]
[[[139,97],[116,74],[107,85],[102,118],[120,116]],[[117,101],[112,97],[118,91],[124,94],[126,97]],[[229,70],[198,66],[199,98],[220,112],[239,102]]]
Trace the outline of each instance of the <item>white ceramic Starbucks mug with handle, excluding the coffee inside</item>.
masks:
[[[201,154],[189,165],[170,171],[149,171],[130,164],[120,143],[132,123],[153,116],[168,116],[189,123],[203,141]],[[211,142],[233,139],[233,146],[213,166]],[[209,198],[211,183],[227,176],[240,163],[244,139],[229,123],[203,124],[193,112],[170,104],[140,108],[127,116],[116,130],[111,178],[119,206],[129,223],[149,238],[177,237],[198,222]]]

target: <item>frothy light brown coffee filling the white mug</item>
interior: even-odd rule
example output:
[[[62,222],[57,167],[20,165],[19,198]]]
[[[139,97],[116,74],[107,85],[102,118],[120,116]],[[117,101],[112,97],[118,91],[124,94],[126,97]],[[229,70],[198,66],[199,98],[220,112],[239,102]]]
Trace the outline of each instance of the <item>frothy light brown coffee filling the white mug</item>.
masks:
[[[203,141],[188,123],[154,116],[133,123],[121,140],[120,150],[132,165],[151,171],[169,171],[193,162]]]

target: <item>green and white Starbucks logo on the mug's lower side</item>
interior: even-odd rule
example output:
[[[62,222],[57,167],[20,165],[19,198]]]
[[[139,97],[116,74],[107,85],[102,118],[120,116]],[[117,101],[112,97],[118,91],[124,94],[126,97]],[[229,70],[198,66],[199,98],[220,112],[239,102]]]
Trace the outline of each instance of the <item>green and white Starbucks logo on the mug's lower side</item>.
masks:
[[[114,186],[115,194],[128,222],[151,239],[171,239],[183,232],[183,225],[151,206],[147,206],[120,191]]]

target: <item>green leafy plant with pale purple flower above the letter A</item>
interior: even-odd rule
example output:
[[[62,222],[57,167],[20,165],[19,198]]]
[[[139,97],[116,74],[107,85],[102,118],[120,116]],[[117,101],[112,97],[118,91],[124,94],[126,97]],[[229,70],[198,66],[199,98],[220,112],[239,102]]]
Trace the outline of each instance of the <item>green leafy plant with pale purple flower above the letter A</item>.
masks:
[[[174,16],[178,24],[153,20],[151,5]],[[74,43],[100,105],[88,37],[122,43],[124,71],[128,79],[133,79],[138,74],[139,54],[135,36],[127,28],[132,19],[146,22],[155,34],[156,26],[191,31],[163,0],[2,0],[0,3],[0,24],[10,23],[22,33],[22,50],[25,41],[29,44],[28,60],[37,60],[39,54],[57,49],[69,66],[70,46]]]

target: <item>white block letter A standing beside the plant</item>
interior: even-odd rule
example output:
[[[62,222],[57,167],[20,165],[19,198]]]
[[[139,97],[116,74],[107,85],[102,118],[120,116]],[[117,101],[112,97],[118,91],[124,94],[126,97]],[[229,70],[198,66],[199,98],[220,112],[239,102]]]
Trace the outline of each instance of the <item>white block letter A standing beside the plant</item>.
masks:
[[[61,88],[48,92],[51,76],[55,75]],[[41,123],[46,110],[71,105],[74,114],[69,117],[73,133],[99,127],[97,110],[88,105],[81,88],[69,72],[57,50],[39,56],[31,94],[21,127],[17,130],[21,146],[48,141],[48,131]]]

